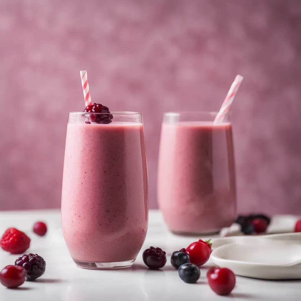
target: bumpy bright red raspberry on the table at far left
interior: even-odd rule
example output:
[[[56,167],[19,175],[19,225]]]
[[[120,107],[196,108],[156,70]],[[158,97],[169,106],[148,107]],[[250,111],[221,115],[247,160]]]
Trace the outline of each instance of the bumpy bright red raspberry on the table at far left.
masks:
[[[30,238],[16,228],[8,228],[1,237],[0,245],[11,254],[20,254],[29,248]]]

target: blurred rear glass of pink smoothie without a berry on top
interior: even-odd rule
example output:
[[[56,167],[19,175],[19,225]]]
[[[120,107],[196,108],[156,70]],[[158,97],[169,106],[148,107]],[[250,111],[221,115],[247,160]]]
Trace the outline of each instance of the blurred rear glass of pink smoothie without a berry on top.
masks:
[[[236,215],[232,126],[217,113],[165,113],[158,166],[158,203],[176,234],[217,233]]]

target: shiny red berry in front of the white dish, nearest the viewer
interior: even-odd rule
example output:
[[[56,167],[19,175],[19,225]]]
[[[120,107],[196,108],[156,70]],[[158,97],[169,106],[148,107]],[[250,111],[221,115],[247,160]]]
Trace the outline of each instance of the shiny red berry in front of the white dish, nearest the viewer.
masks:
[[[228,268],[209,268],[207,279],[209,287],[218,295],[228,295],[236,283],[235,274]]]

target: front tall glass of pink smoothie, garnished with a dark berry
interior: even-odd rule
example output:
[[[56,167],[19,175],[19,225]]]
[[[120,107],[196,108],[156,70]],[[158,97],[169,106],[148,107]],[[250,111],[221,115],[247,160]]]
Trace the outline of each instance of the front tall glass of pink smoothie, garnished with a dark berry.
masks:
[[[142,114],[112,112],[109,124],[87,122],[89,114],[69,113],[62,188],[64,239],[79,267],[125,268],[135,261],[148,222]]]

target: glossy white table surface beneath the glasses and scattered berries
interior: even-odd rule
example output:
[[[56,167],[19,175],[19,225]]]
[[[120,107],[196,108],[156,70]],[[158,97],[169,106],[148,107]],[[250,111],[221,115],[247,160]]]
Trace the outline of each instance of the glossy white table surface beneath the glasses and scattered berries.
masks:
[[[45,237],[32,232],[35,221],[48,224]],[[18,289],[0,285],[1,301],[96,301],[96,300],[301,300],[301,281],[264,281],[237,276],[230,296],[218,296],[208,286],[206,267],[196,284],[186,284],[170,265],[170,254],[187,247],[198,238],[169,233],[158,210],[150,210],[149,227],[142,251],[150,246],[166,251],[167,263],[162,270],[151,271],[143,264],[142,251],[132,268],[94,271],[78,268],[71,259],[61,233],[59,210],[0,212],[0,233],[16,227],[32,241],[26,253],[41,255],[47,265],[45,274],[34,282],[26,281]],[[14,264],[18,256],[0,250],[0,268]]]

